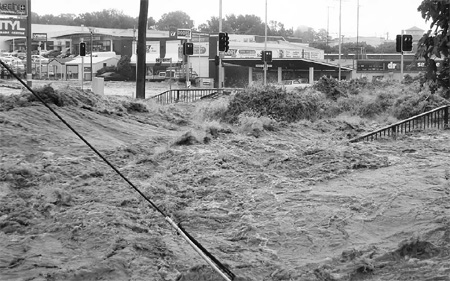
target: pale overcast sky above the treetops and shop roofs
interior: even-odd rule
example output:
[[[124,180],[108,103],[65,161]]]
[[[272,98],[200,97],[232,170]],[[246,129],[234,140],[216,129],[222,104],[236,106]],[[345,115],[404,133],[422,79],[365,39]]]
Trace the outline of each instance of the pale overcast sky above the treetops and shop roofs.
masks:
[[[342,35],[356,36],[358,0],[342,1]],[[402,29],[429,28],[417,7],[422,0],[359,0],[359,36],[394,39]],[[31,9],[39,15],[81,14],[103,9],[117,9],[138,17],[140,0],[33,0]],[[266,0],[222,0],[222,16],[253,14],[265,21]],[[187,13],[194,26],[219,16],[219,0],[149,0],[149,17],[158,21],[164,13],[176,10]],[[278,21],[286,28],[309,26],[316,31],[327,29],[332,37],[339,32],[339,0],[267,0],[267,21]]]

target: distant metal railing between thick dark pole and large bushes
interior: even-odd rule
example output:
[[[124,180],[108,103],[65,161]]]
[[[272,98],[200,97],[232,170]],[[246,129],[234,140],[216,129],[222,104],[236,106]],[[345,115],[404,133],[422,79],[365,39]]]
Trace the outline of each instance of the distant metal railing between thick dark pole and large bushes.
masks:
[[[158,103],[193,102],[202,97],[217,94],[223,89],[216,88],[193,88],[193,89],[171,89],[153,96]]]

